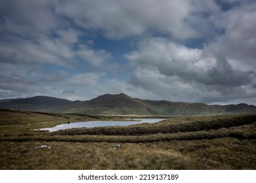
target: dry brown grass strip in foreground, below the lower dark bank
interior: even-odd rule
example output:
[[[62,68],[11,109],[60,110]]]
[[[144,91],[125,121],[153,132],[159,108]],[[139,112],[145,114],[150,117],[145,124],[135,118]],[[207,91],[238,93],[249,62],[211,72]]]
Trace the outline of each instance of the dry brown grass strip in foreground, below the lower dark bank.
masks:
[[[32,149],[42,142],[0,142],[0,169],[255,169],[255,140],[49,142],[52,150]]]

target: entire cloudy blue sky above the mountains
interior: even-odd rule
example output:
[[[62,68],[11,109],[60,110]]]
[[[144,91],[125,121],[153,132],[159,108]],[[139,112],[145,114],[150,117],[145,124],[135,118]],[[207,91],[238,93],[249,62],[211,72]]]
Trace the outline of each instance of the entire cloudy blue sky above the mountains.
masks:
[[[0,0],[0,99],[256,105],[256,1]]]

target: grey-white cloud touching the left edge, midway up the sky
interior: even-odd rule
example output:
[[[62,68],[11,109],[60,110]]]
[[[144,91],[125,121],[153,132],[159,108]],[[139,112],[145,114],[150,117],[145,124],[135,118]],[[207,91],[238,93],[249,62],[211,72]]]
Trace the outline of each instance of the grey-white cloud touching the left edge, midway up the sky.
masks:
[[[14,56],[14,59],[27,64],[51,63],[68,66],[68,62],[74,57],[70,44],[44,35],[37,41],[16,37],[13,42],[1,44],[0,51],[6,57]]]

